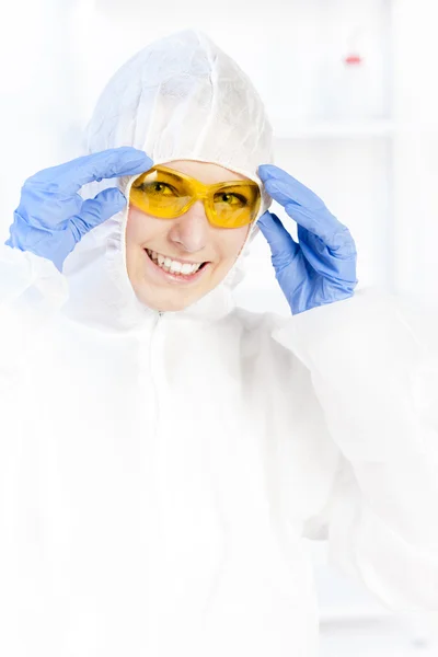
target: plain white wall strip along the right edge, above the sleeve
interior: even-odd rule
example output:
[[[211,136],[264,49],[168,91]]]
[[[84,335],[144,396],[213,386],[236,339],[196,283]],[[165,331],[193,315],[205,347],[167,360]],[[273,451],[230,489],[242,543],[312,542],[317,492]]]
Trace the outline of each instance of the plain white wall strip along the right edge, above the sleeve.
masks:
[[[438,303],[438,42],[435,0],[395,0],[394,206],[401,289]]]

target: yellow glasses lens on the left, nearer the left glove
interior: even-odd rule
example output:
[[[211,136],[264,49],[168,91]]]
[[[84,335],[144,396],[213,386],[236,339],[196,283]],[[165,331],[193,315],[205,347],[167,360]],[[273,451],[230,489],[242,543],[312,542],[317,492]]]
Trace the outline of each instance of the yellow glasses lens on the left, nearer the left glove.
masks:
[[[132,183],[129,200],[148,215],[172,219],[183,214],[191,192],[176,173],[152,169]]]

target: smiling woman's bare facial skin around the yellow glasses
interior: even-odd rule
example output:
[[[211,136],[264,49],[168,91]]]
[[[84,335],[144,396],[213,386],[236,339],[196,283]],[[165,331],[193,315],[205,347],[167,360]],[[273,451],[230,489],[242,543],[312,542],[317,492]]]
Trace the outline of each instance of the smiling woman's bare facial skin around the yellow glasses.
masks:
[[[247,180],[218,164],[189,160],[163,164],[206,184]],[[126,227],[126,260],[134,291],[142,303],[154,310],[174,312],[192,306],[227,276],[245,243],[250,227],[211,226],[201,200],[175,219],[159,219],[131,206]],[[154,264],[147,250],[182,264],[208,264],[195,276],[185,278],[169,273],[165,263],[164,269]],[[152,254],[152,258],[157,255]]]

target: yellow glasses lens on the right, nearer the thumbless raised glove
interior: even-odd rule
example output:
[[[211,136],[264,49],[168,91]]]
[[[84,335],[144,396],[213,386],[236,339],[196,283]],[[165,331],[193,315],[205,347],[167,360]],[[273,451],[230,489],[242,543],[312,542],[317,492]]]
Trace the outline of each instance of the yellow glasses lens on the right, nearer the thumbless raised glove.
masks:
[[[260,206],[257,185],[227,185],[216,192],[214,207],[218,224],[240,228],[254,221]]]

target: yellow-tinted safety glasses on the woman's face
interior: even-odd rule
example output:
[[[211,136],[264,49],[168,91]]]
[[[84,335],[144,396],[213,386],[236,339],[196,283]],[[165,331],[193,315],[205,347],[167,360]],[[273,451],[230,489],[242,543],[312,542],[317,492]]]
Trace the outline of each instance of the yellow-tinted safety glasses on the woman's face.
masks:
[[[203,200],[212,226],[240,228],[255,220],[261,193],[253,181],[232,181],[205,185],[166,166],[157,165],[132,183],[129,203],[153,217],[174,219]]]

